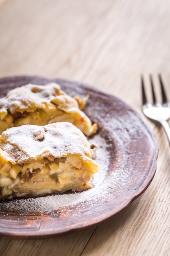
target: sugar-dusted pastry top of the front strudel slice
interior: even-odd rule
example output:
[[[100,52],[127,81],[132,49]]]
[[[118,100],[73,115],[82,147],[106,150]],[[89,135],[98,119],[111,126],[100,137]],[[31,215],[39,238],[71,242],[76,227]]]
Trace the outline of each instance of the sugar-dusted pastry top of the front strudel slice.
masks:
[[[54,158],[78,155],[88,159],[91,150],[85,135],[68,122],[13,127],[0,136],[0,158],[13,164],[50,155]]]

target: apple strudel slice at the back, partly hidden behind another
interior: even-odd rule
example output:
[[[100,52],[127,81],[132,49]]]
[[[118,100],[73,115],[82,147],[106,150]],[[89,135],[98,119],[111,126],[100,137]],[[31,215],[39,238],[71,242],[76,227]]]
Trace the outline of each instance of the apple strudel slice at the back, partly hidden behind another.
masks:
[[[82,111],[88,96],[72,98],[56,83],[23,85],[0,99],[0,134],[13,126],[46,125],[68,121],[85,135],[93,135],[97,124]]]

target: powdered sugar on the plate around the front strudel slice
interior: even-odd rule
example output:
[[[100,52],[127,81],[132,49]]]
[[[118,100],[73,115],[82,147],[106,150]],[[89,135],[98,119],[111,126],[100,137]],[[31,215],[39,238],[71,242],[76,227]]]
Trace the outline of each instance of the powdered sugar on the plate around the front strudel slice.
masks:
[[[3,202],[0,203],[0,209],[3,211],[15,211],[19,213],[21,213],[21,209],[23,213],[44,212],[72,205],[83,200],[90,200],[96,191],[100,191],[100,193],[102,193],[102,190],[100,190],[99,187],[105,180],[110,161],[107,144],[105,139],[100,135],[95,135],[93,139],[89,140],[89,142],[98,144],[96,162],[99,164],[99,172],[94,174],[94,188],[78,193],[64,193],[39,198],[17,199],[9,202]]]

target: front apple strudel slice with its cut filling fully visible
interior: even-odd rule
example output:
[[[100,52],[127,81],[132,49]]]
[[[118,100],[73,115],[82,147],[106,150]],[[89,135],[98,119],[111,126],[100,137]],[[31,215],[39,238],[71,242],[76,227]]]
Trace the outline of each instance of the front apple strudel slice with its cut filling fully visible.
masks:
[[[92,188],[93,150],[69,122],[7,129],[0,135],[0,200]]]

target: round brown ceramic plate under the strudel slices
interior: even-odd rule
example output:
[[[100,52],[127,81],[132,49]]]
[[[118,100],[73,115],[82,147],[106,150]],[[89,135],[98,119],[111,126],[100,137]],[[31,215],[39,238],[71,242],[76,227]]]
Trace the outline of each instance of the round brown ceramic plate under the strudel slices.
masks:
[[[0,97],[26,83],[57,82],[71,96],[89,94],[86,114],[98,124],[94,189],[0,204],[0,235],[37,238],[96,225],[120,213],[149,186],[158,148],[153,133],[120,99],[74,81],[37,76],[0,79]]]

